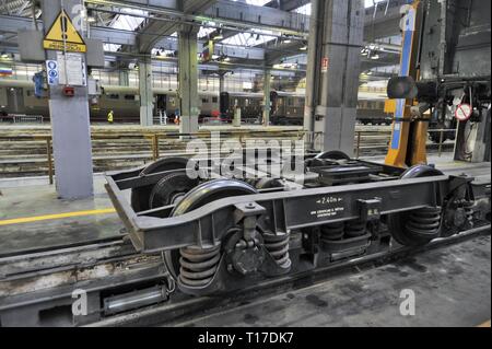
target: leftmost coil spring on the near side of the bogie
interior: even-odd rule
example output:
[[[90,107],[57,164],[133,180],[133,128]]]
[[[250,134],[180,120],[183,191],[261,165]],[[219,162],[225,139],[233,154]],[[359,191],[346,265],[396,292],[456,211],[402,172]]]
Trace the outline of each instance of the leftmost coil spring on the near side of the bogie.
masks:
[[[179,280],[189,287],[204,287],[215,275],[221,259],[221,245],[210,248],[184,247],[179,249]]]

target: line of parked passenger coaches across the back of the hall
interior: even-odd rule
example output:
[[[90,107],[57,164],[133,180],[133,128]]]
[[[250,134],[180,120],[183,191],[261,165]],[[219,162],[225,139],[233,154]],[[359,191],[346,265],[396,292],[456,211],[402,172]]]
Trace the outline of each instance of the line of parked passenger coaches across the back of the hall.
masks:
[[[154,89],[154,115],[164,113],[173,121],[179,105],[175,90]],[[263,96],[261,92],[199,92],[200,121],[221,117],[231,121],[234,109],[241,107],[244,123],[261,123]],[[270,121],[272,125],[303,125],[304,94],[272,91],[270,95]],[[103,85],[102,95],[90,103],[91,121],[104,123],[107,113],[114,110],[115,123],[139,123],[138,88]],[[48,97],[37,97],[34,84],[28,81],[0,80],[0,113],[5,115],[42,115],[49,119]],[[390,116],[384,113],[384,98],[361,98],[358,119],[363,124],[390,124]]]

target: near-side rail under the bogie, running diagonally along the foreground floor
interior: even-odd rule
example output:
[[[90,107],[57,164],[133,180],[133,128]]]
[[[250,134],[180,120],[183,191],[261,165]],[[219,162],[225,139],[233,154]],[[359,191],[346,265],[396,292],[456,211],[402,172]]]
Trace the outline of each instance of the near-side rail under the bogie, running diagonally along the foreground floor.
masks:
[[[196,319],[220,316],[223,312],[253,303],[259,298],[301,290],[317,283],[326,282],[336,277],[344,277],[353,272],[361,272],[361,270],[368,270],[429,251],[456,245],[478,236],[490,236],[490,233],[491,225],[487,224],[461,232],[452,237],[435,240],[429,245],[419,248],[399,246],[389,252],[353,258],[339,265],[325,267],[315,271],[263,281],[241,291],[223,294],[218,298],[203,296],[178,300],[176,302],[164,303],[162,305],[106,318],[90,324],[89,326],[192,326],[194,321]]]

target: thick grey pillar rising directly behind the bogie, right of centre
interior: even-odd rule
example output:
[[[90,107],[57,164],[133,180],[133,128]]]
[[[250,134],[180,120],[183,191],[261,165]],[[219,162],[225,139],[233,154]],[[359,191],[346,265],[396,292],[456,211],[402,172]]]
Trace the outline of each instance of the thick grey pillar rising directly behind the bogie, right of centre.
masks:
[[[320,151],[353,154],[363,44],[363,1],[314,0],[304,126],[323,131]]]

